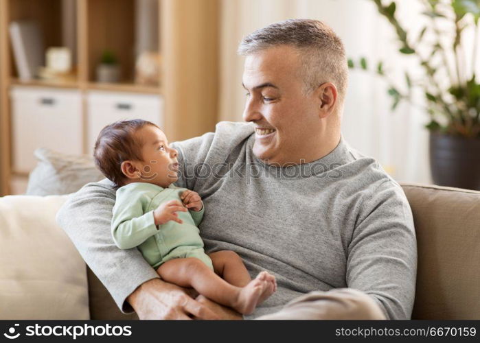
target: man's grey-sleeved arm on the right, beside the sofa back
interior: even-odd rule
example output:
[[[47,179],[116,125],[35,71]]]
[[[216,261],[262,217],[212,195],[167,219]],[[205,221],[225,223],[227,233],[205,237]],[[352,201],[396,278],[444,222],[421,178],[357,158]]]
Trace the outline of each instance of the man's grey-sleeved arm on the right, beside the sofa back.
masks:
[[[347,285],[372,296],[389,319],[411,317],[417,246],[407,198],[393,181],[366,201],[348,247]]]

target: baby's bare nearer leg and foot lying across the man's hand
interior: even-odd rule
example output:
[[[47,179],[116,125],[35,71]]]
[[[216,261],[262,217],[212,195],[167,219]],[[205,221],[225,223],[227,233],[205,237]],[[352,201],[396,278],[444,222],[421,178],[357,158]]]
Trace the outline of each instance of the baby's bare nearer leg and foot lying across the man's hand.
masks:
[[[164,281],[181,287],[193,287],[203,296],[230,306],[241,314],[251,314],[268,287],[268,283],[261,280],[251,281],[247,287],[230,285],[194,257],[167,261],[157,269],[157,273]]]

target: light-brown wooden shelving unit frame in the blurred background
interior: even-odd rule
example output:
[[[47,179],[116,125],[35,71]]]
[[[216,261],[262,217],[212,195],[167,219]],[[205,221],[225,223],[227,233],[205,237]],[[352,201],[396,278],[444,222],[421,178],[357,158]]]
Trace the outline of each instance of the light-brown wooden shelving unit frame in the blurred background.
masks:
[[[135,60],[139,49],[139,2],[155,7],[155,49],[162,57],[159,85],[135,84]],[[0,0],[0,196],[10,193],[25,178],[15,170],[14,152],[23,137],[14,137],[14,88],[38,91],[80,91],[82,100],[81,151],[91,150],[89,96],[106,92],[119,99],[142,94],[159,97],[163,109],[159,122],[169,141],[196,137],[214,130],[218,93],[218,13],[220,0]],[[150,12],[152,14],[152,12]],[[155,12],[153,12],[155,14]],[[22,81],[16,71],[8,27],[12,21],[30,19],[41,27],[45,48],[67,46],[73,52],[76,78],[68,81]],[[100,83],[95,68],[105,50],[112,51],[121,66],[118,83]],[[157,108],[157,106],[154,106]],[[138,112],[137,112],[138,113]],[[32,116],[35,113],[32,113]],[[68,113],[66,113],[68,115]],[[148,117],[148,116],[147,116]],[[150,116],[151,117],[151,114]],[[95,117],[95,119],[98,119]],[[23,117],[25,122],[25,116]],[[75,119],[75,122],[78,120]],[[34,121],[32,121],[34,122]],[[101,121],[100,121],[101,122]],[[48,131],[48,128],[38,128]],[[56,128],[43,134],[54,135]],[[20,138],[20,140],[19,140]],[[52,141],[52,139],[51,139]],[[17,143],[15,143],[17,142]],[[61,143],[61,142],[58,142]],[[40,147],[40,146],[38,146]],[[16,156],[18,160],[19,156]],[[15,188],[15,186],[13,187]]]

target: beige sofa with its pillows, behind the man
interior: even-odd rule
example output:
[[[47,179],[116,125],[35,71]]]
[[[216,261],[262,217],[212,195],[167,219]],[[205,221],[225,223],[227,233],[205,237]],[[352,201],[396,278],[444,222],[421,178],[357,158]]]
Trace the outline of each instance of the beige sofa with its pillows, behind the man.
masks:
[[[45,196],[72,191],[62,182],[71,186],[72,175],[85,175],[84,169],[89,169],[90,180],[101,175],[91,169],[90,161],[82,166],[60,158],[61,168],[54,168],[51,157],[40,156],[30,176],[30,195],[0,198],[0,303],[5,305],[0,319],[137,319],[119,311],[58,228],[55,214],[67,196]],[[38,178],[45,174],[49,178]],[[413,184],[402,188],[418,241],[412,318],[480,319],[480,191]]]

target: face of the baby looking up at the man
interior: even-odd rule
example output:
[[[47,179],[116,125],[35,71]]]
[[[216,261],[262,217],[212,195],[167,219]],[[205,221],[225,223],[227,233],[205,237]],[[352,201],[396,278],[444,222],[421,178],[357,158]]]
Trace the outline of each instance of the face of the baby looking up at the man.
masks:
[[[159,128],[144,126],[135,132],[135,139],[141,139],[144,143],[141,148],[144,161],[139,167],[141,180],[164,188],[178,180],[178,152],[168,146],[167,137]]]

